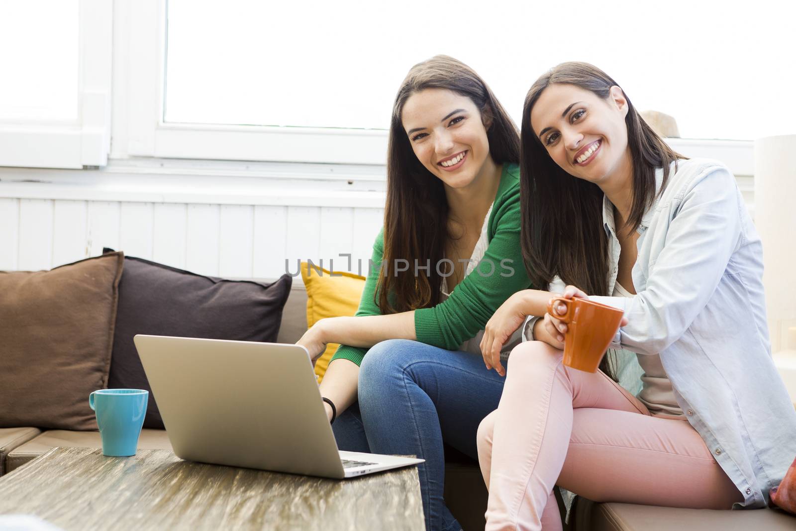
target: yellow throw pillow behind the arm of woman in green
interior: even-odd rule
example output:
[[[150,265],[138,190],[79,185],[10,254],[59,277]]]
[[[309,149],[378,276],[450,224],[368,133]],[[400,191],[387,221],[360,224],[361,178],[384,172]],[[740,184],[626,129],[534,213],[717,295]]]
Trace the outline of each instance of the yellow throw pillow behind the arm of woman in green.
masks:
[[[357,312],[359,300],[362,298],[362,290],[365,289],[364,276],[338,271],[334,271],[334,276],[332,276],[326,269],[316,265],[310,269],[306,262],[302,262],[301,278],[306,287],[307,328],[311,328],[322,318],[350,317]],[[323,374],[326,373],[326,368],[338,346],[337,343],[330,343],[318,361],[315,361],[315,374],[318,375],[318,381],[323,379]]]

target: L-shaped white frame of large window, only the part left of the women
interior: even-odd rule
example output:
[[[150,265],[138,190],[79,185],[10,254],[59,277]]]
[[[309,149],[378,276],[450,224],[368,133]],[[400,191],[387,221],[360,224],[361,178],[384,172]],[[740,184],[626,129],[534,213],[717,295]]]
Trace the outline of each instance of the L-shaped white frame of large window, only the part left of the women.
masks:
[[[388,131],[164,123],[166,0],[131,2],[127,154],[273,162],[384,164]]]

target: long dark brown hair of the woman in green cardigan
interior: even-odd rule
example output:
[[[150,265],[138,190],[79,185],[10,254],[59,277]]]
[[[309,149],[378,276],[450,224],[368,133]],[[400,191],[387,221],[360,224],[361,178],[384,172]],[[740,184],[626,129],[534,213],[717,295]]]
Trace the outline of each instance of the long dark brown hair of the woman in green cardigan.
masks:
[[[439,303],[443,277],[436,267],[444,258],[449,237],[447,198],[443,182],[416,157],[401,123],[409,96],[427,88],[445,88],[470,98],[481,112],[483,123],[489,124],[486,138],[494,162],[516,164],[520,160],[517,126],[472,68],[453,57],[438,55],[409,70],[396,95],[390,121],[384,255],[374,295],[384,314]],[[398,272],[396,260],[407,260],[408,271]],[[419,265],[417,271],[415,264]],[[431,267],[424,269],[427,264]],[[443,268],[442,272],[446,271]]]

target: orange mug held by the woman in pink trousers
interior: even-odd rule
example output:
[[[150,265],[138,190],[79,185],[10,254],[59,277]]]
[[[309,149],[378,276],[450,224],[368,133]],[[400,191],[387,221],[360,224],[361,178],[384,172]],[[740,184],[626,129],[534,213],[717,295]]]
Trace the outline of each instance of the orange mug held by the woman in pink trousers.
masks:
[[[558,303],[567,306],[567,313],[553,311]],[[622,322],[622,310],[587,299],[556,297],[548,303],[548,312],[567,323],[564,334],[564,365],[595,373],[605,351],[611,345]]]

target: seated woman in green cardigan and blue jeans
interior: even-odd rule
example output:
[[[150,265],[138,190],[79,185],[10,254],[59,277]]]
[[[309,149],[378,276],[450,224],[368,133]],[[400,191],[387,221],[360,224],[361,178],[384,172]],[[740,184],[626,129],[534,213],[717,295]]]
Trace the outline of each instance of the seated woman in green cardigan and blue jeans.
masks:
[[[472,69],[444,56],[414,66],[392,111],[384,228],[359,310],[298,342],[313,358],[342,344],[321,384],[341,450],[425,459],[427,529],[461,529],[443,502],[443,441],[477,459],[505,374],[482,361],[483,328],[530,284],[519,157],[517,127]],[[517,342],[519,330],[505,352]]]

